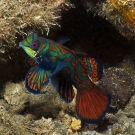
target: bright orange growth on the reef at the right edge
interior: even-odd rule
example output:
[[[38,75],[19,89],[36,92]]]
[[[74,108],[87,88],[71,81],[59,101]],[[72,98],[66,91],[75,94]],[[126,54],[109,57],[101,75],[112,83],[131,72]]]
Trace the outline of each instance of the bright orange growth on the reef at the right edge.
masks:
[[[129,7],[127,10],[124,10],[123,17],[130,25],[135,27],[135,8]]]

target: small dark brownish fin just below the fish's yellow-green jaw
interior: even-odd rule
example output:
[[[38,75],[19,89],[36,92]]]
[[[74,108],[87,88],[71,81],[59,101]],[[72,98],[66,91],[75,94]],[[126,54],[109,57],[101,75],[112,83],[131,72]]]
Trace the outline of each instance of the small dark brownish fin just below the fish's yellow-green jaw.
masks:
[[[37,62],[29,56],[25,59],[25,64],[29,68],[32,68],[38,65]]]

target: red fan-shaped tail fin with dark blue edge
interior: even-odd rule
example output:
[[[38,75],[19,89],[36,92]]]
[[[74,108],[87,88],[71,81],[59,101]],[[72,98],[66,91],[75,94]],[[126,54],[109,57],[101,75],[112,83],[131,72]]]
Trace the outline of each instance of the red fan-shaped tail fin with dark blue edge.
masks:
[[[109,110],[111,97],[95,84],[78,90],[76,111],[85,123],[98,123]]]

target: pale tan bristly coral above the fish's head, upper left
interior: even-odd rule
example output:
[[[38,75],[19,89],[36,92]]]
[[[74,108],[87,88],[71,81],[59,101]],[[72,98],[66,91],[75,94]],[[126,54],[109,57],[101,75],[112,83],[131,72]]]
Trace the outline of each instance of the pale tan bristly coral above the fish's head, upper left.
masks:
[[[31,27],[47,31],[60,18],[61,4],[66,0],[1,0],[0,40],[15,44],[16,34],[24,35],[23,29]]]

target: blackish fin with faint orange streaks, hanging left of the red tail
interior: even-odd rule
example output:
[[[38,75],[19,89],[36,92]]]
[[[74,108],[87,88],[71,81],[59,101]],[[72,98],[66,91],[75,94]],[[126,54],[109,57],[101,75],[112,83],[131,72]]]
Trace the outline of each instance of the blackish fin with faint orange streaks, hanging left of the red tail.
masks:
[[[57,91],[60,97],[66,103],[70,103],[75,96],[72,83],[67,81],[66,79],[59,79],[59,86]]]

